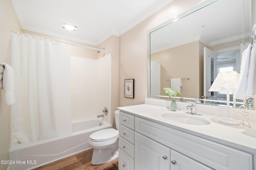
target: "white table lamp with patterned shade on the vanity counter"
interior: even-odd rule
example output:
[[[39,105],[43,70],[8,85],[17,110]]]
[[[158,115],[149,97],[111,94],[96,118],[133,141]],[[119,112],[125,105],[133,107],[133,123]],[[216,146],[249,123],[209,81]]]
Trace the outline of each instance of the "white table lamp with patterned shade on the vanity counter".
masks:
[[[230,97],[229,92],[235,92],[239,85],[240,75],[236,71],[220,72],[215,78],[209,92],[227,92],[227,117],[221,118],[220,123],[228,125],[240,125],[238,121],[230,117]]]

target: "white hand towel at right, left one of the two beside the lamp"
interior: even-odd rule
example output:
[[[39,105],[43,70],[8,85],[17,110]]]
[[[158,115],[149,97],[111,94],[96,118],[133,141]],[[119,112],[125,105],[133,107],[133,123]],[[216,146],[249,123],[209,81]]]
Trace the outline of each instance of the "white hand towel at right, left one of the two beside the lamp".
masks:
[[[251,47],[252,45],[249,45],[248,48],[242,54],[242,62],[241,62],[240,78],[239,78],[240,82],[235,93],[235,98],[241,99],[241,100],[244,100],[246,98],[245,92],[247,89],[247,82],[248,82]]]

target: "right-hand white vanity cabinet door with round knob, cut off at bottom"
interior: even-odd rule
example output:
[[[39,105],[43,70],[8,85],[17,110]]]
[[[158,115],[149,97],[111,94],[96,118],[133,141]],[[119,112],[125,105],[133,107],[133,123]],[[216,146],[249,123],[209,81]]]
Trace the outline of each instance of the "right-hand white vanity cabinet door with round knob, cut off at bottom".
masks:
[[[213,170],[196,160],[171,150],[171,170]]]

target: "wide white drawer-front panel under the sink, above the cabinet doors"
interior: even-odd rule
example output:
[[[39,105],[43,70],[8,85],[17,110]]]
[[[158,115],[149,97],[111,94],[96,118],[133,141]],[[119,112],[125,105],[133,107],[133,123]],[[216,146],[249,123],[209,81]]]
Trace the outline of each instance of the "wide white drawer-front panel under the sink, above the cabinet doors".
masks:
[[[135,131],[218,170],[252,170],[252,154],[135,118]]]

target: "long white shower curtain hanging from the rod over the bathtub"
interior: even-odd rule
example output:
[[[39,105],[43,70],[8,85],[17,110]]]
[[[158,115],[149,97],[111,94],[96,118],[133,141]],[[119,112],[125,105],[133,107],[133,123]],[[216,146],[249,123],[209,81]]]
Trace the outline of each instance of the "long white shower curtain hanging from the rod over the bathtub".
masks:
[[[28,143],[70,134],[70,47],[12,33],[12,67],[14,137]]]

